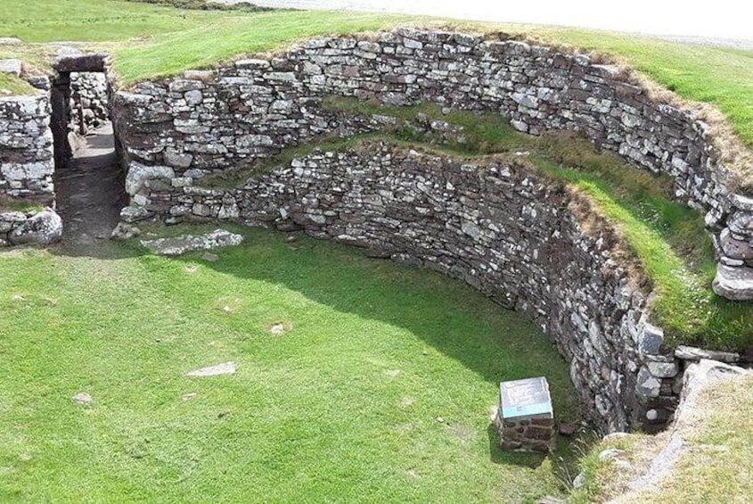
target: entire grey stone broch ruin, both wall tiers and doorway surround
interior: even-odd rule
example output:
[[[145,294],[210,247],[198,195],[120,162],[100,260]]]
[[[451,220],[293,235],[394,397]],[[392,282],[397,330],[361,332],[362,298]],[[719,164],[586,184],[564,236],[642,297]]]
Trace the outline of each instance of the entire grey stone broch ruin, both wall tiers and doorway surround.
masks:
[[[53,205],[69,133],[109,114],[130,202],[123,221],[303,229],[462,278],[544,329],[603,431],[664,426],[683,359],[698,355],[662,347],[651,295],[618,253],[618,234],[566,186],[511,156],[458,161],[382,142],[315,151],[232,189],[202,186],[202,178],[395,120],[333,112],[322,105],[326,95],[499,112],[520,131],[574,130],[673,178],[676,198],[704,211],[714,236],[716,293],[753,300],[753,199],[735,192],[709,126],[584,55],[397,29],[316,39],[127,90],[114,87],[109,64],[102,54],[65,57],[52,86],[34,78],[37,95],[0,98],[0,194]],[[452,131],[446,123],[426,128]],[[0,239],[28,218],[0,214]]]

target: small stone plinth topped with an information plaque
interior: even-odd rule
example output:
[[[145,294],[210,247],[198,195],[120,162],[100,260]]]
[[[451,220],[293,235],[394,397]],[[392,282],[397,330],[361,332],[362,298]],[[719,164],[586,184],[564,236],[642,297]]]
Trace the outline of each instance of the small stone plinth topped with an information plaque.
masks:
[[[553,450],[554,415],[546,378],[499,384],[499,408],[494,423],[503,450]]]

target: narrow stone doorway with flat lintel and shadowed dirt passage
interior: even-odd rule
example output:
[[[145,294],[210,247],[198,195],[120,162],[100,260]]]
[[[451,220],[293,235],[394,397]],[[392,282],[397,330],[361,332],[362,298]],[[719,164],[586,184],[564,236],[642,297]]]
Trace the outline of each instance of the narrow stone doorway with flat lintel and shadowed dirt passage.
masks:
[[[106,54],[61,56],[52,88],[54,185],[63,244],[110,237],[127,205],[125,173],[110,121]]]

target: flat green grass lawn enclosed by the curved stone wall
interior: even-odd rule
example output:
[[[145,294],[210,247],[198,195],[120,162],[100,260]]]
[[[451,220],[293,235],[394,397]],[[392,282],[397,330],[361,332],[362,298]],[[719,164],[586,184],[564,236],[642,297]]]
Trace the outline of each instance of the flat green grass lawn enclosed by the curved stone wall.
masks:
[[[569,367],[535,326],[426,270],[240,232],[217,262],[0,252],[0,501],[563,491],[566,445],[504,453],[489,429],[497,382],[524,376],[547,376],[557,417],[576,418]],[[184,376],[228,360],[233,376]],[[91,406],[71,401],[82,391]]]

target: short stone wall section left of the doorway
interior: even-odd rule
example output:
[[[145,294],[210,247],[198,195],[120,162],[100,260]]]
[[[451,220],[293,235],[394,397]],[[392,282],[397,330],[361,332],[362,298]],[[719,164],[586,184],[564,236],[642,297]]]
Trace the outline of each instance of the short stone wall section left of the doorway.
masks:
[[[0,98],[0,195],[53,202],[49,94]]]

